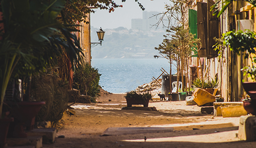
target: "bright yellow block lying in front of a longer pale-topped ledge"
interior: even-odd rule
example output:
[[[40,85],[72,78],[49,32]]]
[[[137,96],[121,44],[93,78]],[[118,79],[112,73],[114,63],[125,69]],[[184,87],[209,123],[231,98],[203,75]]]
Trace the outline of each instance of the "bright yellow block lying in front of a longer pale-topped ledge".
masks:
[[[221,107],[221,114],[223,117],[238,117],[241,115],[246,115],[247,111],[242,105],[229,105],[226,107]]]

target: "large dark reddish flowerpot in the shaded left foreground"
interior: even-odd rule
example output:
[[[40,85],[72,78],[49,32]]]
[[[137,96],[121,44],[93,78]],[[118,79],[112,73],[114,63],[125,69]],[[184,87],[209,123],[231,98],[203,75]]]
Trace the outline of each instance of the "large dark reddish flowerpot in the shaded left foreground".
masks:
[[[9,137],[27,137],[24,131],[32,130],[35,124],[35,117],[41,109],[44,101],[22,101],[7,102],[12,106],[11,114],[14,116],[15,122],[11,123],[8,136]],[[11,128],[12,127],[12,128]]]

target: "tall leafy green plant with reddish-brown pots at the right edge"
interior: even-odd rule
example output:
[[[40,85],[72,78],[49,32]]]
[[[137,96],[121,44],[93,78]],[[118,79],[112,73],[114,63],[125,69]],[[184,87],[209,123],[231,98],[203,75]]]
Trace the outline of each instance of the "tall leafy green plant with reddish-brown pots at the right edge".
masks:
[[[242,80],[242,86],[245,92],[249,95],[243,99],[244,109],[248,113],[255,114],[253,111],[256,108],[256,59],[255,59],[255,50],[256,46],[256,33],[250,30],[238,30],[238,31],[229,31],[223,34],[222,39],[224,39],[223,44],[228,45],[230,50],[234,51],[238,55],[244,53],[244,59],[250,59],[251,64],[244,66],[241,71],[243,75],[246,75],[250,80]],[[249,60],[248,60],[249,61]],[[248,105],[249,104],[249,105]],[[250,108],[250,109],[249,109]]]

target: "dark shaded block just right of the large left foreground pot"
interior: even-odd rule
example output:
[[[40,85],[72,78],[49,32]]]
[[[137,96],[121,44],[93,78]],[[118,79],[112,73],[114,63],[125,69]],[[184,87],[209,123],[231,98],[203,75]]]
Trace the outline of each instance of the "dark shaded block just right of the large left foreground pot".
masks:
[[[35,128],[28,131],[28,136],[42,136],[43,143],[53,143],[56,137],[56,128]]]

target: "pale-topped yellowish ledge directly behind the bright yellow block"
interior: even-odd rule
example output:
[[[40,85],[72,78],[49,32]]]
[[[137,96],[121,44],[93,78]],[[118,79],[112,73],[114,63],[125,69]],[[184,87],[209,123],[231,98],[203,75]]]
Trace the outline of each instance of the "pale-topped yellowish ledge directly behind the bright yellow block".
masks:
[[[221,107],[229,105],[242,105],[242,102],[213,102],[214,116],[222,116]]]

